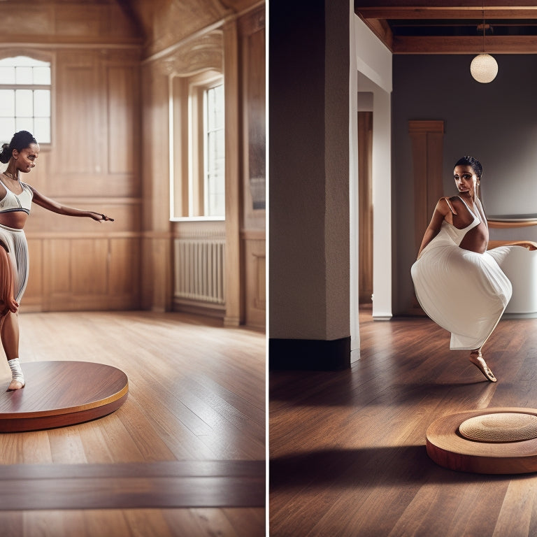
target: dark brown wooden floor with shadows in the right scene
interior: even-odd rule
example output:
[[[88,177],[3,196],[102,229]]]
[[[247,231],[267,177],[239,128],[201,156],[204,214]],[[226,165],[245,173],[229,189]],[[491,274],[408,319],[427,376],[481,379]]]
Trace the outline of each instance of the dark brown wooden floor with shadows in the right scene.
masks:
[[[427,318],[360,315],[361,353],[335,373],[270,375],[270,535],[537,535],[537,474],[478,475],[434,464],[437,417],[537,406],[537,320],[502,320],[487,382]]]

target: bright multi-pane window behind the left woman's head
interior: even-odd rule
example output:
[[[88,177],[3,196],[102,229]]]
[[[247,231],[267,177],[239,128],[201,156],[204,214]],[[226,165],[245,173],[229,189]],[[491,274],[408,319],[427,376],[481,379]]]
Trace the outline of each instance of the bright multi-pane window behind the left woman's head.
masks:
[[[28,56],[0,59],[0,141],[30,131],[50,143],[50,63]]]

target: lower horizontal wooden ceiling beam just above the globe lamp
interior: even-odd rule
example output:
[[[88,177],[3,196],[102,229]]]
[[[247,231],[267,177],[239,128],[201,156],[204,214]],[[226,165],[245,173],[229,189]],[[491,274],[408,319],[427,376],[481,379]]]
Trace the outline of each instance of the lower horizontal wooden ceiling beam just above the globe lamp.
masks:
[[[480,54],[482,37],[394,36],[389,47],[394,54]],[[537,54],[537,36],[487,36],[489,54]]]

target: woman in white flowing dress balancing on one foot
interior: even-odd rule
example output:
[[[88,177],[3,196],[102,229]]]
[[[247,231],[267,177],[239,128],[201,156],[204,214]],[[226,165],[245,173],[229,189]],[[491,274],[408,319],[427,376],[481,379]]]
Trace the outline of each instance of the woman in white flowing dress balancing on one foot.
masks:
[[[496,382],[481,349],[512,289],[496,262],[496,252],[487,252],[489,230],[479,199],[481,175],[482,166],[473,157],[462,157],[455,164],[458,195],[436,204],[410,273],[425,313],[451,332],[450,348],[470,350],[471,363]],[[503,250],[498,253],[505,255]]]

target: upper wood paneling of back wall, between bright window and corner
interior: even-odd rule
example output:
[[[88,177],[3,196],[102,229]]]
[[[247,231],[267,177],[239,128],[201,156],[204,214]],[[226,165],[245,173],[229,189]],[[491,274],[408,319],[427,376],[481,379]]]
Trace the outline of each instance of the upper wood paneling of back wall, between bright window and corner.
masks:
[[[52,167],[62,181],[55,182],[58,192],[49,192],[51,196],[139,196],[137,55],[107,50],[59,52]],[[76,181],[73,174],[85,177]]]

